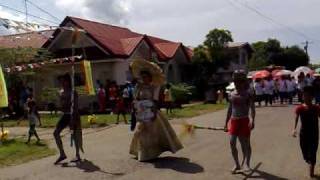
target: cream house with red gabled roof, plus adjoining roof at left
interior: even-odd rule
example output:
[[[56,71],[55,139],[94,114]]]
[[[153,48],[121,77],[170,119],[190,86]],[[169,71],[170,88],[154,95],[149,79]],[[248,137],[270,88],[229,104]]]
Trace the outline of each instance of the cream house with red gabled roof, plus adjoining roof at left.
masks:
[[[72,43],[75,29],[79,30],[76,44]],[[125,27],[94,22],[76,17],[66,17],[56,30],[27,32],[0,36],[0,48],[46,48],[57,63],[49,63],[37,69],[33,87],[35,98],[39,98],[43,88],[58,87],[58,77],[71,72],[67,59],[76,58],[75,85],[84,85],[80,61],[91,61],[93,80],[106,80],[124,84],[132,80],[129,64],[142,58],[156,62],[166,75],[167,82],[185,82],[189,78],[188,65],[192,50],[180,42],[134,32]],[[74,50],[74,51],[73,51]],[[97,84],[95,84],[97,85]],[[98,87],[95,87],[98,88]],[[83,99],[82,107],[92,102]]]

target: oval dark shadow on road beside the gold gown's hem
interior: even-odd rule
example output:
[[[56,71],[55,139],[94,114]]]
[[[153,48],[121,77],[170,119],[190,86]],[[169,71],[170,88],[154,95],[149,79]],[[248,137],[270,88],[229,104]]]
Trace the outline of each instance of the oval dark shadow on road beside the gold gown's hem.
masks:
[[[150,161],[155,168],[172,169],[182,173],[196,174],[204,171],[203,167],[190,162],[187,158],[163,157]]]

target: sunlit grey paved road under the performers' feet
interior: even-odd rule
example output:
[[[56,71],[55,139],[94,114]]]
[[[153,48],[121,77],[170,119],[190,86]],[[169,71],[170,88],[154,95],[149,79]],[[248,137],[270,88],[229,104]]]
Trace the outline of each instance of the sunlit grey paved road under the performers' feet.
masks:
[[[165,153],[151,163],[140,163],[128,154],[132,133],[120,125],[85,135],[85,161],[76,166],[66,163],[54,166],[56,157],[0,169],[0,179],[119,179],[119,180],[180,180],[180,179],[304,179],[306,166],[298,139],[290,136],[293,107],[258,108],[256,129],[252,134],[255,172],[231,175],[233,166],[228,136],[221,131],[199,130],[192,138],[183,139],[185,148],[177,154]],[[204,126],[222,126],[225,111],[188,119]],[[177,132],[181,121],[173,121]],[[68,137],[66,137],[68,138]],[[70,157],[69,140],[65,139]]]

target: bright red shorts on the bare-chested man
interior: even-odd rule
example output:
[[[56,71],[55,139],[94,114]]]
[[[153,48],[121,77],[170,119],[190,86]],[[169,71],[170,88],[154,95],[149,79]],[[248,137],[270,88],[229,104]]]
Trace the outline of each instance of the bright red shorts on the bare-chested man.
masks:
[[[250,137],[250,119],[245,118],[231,118],[228,124],[228,132],[233,136]]]

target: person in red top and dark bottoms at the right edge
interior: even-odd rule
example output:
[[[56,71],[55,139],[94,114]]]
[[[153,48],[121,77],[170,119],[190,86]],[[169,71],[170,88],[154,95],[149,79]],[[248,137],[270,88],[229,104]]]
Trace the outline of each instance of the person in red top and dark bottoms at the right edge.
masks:
[[[309,165],[309,175],[314,177],[314,168],[317,160],[317,150],[319,143],[319,123],[320,108],[312,104],[314,89],[306,86],[303,89],[304,104],[296,108],[296,119],[294,124],[293,136],[297,135],[297,124],[300,118],[300,148],[304,160]]]

